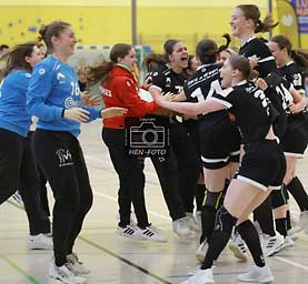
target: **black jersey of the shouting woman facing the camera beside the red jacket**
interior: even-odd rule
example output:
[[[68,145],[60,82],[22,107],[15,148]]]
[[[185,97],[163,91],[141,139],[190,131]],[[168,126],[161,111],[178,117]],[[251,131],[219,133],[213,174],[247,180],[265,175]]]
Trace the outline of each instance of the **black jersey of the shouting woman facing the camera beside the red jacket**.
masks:
[[[176,73],[170,67],[161,65],[157,70],[148,73],[152,78],[151,88],[159,88],[161,92],[180,93],[187,80],[183,72]]]

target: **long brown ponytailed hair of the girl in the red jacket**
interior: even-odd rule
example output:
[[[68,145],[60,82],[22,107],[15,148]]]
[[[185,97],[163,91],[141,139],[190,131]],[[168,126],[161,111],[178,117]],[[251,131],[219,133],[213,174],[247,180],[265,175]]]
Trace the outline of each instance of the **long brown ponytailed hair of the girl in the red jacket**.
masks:
[[[131,44],[128,43],[117,43],[112,47],[109,58],[110,61],[103,60],[100,64],[96,67],[87,67],[87,81],[90,84],[96,84],[101,81],[105,82],[108,79],[108,74],[115,64],[118,63],[119,58],[125,58],[129,51],[132,49]]]

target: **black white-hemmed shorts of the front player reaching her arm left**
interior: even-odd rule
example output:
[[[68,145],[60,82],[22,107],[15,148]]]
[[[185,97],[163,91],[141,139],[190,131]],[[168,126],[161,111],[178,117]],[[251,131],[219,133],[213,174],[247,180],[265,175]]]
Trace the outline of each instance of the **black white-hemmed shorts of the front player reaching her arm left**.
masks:
[[[276,140],[262,140],[245,145],[245,155],[236,179],[245,181],[262,191],[280,190],[286,159]]]

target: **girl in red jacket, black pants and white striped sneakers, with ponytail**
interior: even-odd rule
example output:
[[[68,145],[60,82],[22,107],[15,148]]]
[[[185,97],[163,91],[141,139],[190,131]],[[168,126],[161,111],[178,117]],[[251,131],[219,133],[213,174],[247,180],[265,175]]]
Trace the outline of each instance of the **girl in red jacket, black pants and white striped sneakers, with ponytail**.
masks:
[[[145,203],[145,160],[127,156],[125,151],[125,116],[142,118],[159,106],[155,102],[142,101],[138,94],[138,81],[133,75],[137,62],[135,49],[130,44],[118,43],[110,51],[110,61],[89,68],[88,80],[101,81],[101,95],[106,108],[127,108],[126,115],[103,120],[102,140],[108,146],[113,168],[119,176],[118,234],[153,242],[166,242],[149,221]],[[137,225],[130,222],[130,206],[133,204]]]

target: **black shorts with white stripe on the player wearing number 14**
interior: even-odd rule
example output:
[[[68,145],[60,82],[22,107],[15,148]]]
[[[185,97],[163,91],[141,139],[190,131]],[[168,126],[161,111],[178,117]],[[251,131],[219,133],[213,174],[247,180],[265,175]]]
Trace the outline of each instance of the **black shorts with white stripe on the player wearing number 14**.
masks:
[[[217,113],[200,120],[199,133],[205,169],[221,169],[229,162],[239,162],[240,134],[228,114]]]

